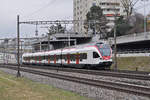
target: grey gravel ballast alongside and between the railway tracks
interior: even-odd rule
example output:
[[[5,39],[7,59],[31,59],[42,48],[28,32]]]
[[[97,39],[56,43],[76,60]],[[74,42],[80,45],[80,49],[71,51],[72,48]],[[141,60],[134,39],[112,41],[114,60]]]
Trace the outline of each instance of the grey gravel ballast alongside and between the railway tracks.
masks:
[[[5,68],[0,68],[0,70],[9,74],[16,75],[16,71],[14,70],[5,69]],[[57,71],[50,71],[50,72],[57,73]],[[90,79],[97,79],[97,80],[111,80],[111,81],[126,81],[127,80],[127,79],[119,80],[118,78],[115,79],[113,77],[83,75],[79,73],[68,73],[68,72],[59,72],[59,71],[58,73],[66,74],[66,75],[73,75],[73,76],[78,76],[78,77],[85,77],[85,78],[90,78]],[[40,75],[34,75],[34,74],[26,73],[26,72],[21,72],[21,75],[35,82],[49,84],[57,88],[76,92],[76,93],[79,93],[80,95],[93,98],[94,100],[150,100],[150,98],[147,98],[147,97],[118,92],[115,90],[108,90],[105,88],[94,87],[94,86],[85,85],[85,84],[74,83],[74,82],[55,79],[55,78],[49,78],[49,77],[40,76]],[[133,80],[133,81],[136,82],[136,80]],[[139,82],[139,80],[137,81]],[[148,81],[143,82],[142,84],[147,84],[149,86]]]

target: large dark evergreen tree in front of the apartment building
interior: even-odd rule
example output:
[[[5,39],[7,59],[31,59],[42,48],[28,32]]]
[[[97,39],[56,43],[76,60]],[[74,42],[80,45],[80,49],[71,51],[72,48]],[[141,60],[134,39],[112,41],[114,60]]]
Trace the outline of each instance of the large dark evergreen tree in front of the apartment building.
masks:
[[[107,20],[103,15],[103,11],[99,6],[92,6],[90,11],[86,14],[86,21],[84,28],[88,31],[91,29],[94,33],[99,33],[102,37],[107,37]]]

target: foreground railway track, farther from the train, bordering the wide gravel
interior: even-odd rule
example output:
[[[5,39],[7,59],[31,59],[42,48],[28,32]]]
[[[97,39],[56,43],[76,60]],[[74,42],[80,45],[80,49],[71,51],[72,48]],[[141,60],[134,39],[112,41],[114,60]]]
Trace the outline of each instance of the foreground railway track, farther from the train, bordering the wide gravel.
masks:
[[[17,70],[17,67],[5,66],[5,68]],[[125,83],[111,82],[111,81],[100,81],[100,80],[93,80],[93,79],[87,79],[87,78],[79,78],[79,77],[74,77],[74,76],[60,75],[60,74],[37,71],[37,70],[26,69],[26,68],[21,68],[20,70],[22,72],[28,72],[32,74],[42,75],[42,76],[51,77],[51,78],[57,78],[61,80],[67,80],[71,82],[77,82],[81,84],[86,84],[86,85],[91,85],[91,86],[96,86],[96,87],[101,87],[101,88],[106,88],[106,89],[111,89],[111,90],[117,90],[117,91],[126,92],[126,93],[132,93],[135,95],[141,95],[141,96],[146,96],[150,98],[150,87],[146,87],[146,86],[125,84]]]

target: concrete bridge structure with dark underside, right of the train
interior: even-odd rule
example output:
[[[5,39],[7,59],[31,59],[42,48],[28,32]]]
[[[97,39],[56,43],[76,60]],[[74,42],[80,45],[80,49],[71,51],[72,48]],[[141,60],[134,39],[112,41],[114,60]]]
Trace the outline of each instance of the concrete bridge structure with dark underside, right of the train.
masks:
[[[109,38],[108,42],[114,45],[114,39]],[[150,32],[134,33],[117,37],[118,53],[150,53]]]

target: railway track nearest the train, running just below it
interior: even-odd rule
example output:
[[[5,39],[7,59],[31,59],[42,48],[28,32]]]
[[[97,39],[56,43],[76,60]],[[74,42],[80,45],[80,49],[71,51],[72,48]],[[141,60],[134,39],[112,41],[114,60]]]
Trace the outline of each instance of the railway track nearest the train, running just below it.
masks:
[[[87,70],[87,69],[74,69],[74,68],[59,68],[59,67],[50,67],[50,66],[36,66],[36,65],[22,65],[22,67],[38,68],[38,69],[49,69],[49,70],[59,70],[64,72],[73,72],[81,74],[90,74],[90,75],[99,75],[99,76],[108,76],[108,77],[117,77],[117,78],[127,78],[127,79],[136,79],[150,81],[150,75],[148,72],[135,72],[135,71],[96,71],[96,70]]]

